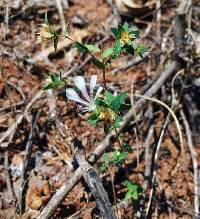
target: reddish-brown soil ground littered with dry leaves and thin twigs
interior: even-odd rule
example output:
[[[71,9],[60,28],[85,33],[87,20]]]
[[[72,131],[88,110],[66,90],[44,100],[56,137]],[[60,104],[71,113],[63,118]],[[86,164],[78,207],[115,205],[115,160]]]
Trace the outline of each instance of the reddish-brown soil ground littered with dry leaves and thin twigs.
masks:
[[[105,139],[101,125],[89,125],[88,113],[78,112],[76,104],[67,100],[64,89],[55,92],[53,98],[43,90],[46,75],[60,71],[70,83],[75,75],[84,75],[89,81],[91,75],[96,74],[98,84],[103,84],[102,72],[92,65],[87,55],[80,56],[69,40],[62,39],[56,52],[52,44],[42,47],[38,43],[37,33],[46,12],[49,22],[62,32],[56,2],[61,2],[70,36],[80,42],[99,43],[104,47],[112,45],[110,28],[119,22],[127,21],[140,29],[141,42],[151,51],[142,60],[122,55],[108,67],[106,82],[112,92],[126,91],[129,97],[133,92],[145,94],[176,59],[181,59],[180,67],[163,81],[153,97],[170,107],[175,92],[173,111],[181,127],[184,148],[180,145],[176,123],[172,116],[168,119],[166,108],[157,102],[146,101],[120,134],[123,142],[132,148],[125,162],[101,173],[101,157],[94,170],[100,176],[118,218],[199,218],[198,0],[191,1],[188,8],[190,1],[186,1],[184,9],[181,4],[185,1],[147,1],[154,4],[151,7],[143,5],[141,10],[129,7],[128,16],[121,15],[123,8],[119,5],[117,8],[115,1],[3,1],[0,5],[0,218],[37,218],[73,176],[69,163],[74,159],[74,153],[52,118],[51,101],[55,101],[56,117],[82,141],[86,157]],[[180,14],[185,15],[187,36],[179,32],[177,37],[175,18]],[[184,44],[180,45],[179,40]],[[179,74],[180,71],[183,74]],[[171,87],[173,79],[175,83]],[[138,100],[134,99],[133,105]],[[105,152],[118,146],[117,140],[111,143],[113,146],[110,144]],[[24,175],[27,153],[31,158]],[[125,203],[125,180],[145,188],[137,200]],[[20,204],[22,188],[25,203]],[[116,203],[119,204],[117,210]],[[50,210],[51,216],[41,218],[101,218],[84,178],[75,180],[72,189],[55,206]],[[21,216],[20,207],[25,208]],[[143,216],[139,216],[139,211]]]

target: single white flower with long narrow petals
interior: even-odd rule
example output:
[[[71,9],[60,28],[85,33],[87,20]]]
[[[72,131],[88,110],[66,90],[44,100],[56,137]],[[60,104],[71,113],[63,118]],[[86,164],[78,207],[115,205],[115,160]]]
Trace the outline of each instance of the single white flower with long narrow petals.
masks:
[[[66,89],[67,98],[77,102],[78,107],[82,112],[87,112],[87,111],[90,112],[90,111],[95,110],[96,108],[95,100],[99,96],[101,91],[103,90],[103,87],[99,87],[97,89],[95,96],[93,96],[96,82],[97,82],[97,76],[92,75],[91,80],[90,80],[90,92],[88,93],[86,84],[85,84],[85,79],[82,76],[76,76],[74,78],[74,84],[81,91],[84,99],[82,99],[77,94],[77,92],[72,88]]]

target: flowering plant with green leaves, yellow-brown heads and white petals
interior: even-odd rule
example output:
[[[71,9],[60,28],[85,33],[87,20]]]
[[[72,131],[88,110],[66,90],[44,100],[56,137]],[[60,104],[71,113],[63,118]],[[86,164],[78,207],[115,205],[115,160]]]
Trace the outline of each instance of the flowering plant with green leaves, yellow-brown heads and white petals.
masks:
[[[119,24],[117,28],[111,28],[114,37],[112,47],[103,48],[93,44],[84,44],[77,42],[70,38],[68,30],[63,35],[59,35],[55,28],[49,24],[47,14],[42,23],[41,31],[38,40],[44,45],[47,42],[53,42],[55,51],[57,44],[61,37],[67,38],[73,42],[73,46],[77,48],[80,53],[88,53],[91,56],[92,63],[102,70],[103,86],[97,86],[97,75],[92,75],[89,83],[89,89],[86,86],[84,77],[74,77],[74,87],[66,88],[66,96],[69,100],[76,102],[77,108],[81,113],[88,112],[88,124],[97,125],[103,124],[104,133],[107,135],[112,130],[115,131],[119,146],[113,152],[105,153],[103,155],[103,163],[100,167],[102,172],[107,172],[111,166],[121,165],[128,153],[132,152],[130,145],[123,143],[118,135],[117,128],[120,128],[123,121],[123,113],[130,108],[126,104],[127,92],[121,92],[117,95],[112,94],[106,87],[106,69],[108,65],[112,64],[120,55],[138,55],[143,58],[144,54],[149,51],[144,45],[138,44],[140,38],[140,31],[135,27],[130,27],[127,23]],[[59,74],[51,74],[46,79],[44,90],[59,89],[67,86],[66,81]],[[112,178],[112,177],[111,177]],[[129,181],[125,181],[124,185],[128,191],[125,195],[125,200],[138,199],[138,194],[142,188]],[[114,186],[113,186],[114,190]]]

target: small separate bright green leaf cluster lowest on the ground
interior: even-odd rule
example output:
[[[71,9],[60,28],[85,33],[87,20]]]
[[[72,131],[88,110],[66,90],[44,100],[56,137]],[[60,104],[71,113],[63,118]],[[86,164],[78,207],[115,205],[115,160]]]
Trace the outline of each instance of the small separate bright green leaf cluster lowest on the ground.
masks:
[[[127,188],[127,192],[125,194],[125,201],[132,199],[132,200],[138,200],[138,195],[143,191],[142,187],[131,183],[130,181],[126,180],[124,182],[124,186]]]

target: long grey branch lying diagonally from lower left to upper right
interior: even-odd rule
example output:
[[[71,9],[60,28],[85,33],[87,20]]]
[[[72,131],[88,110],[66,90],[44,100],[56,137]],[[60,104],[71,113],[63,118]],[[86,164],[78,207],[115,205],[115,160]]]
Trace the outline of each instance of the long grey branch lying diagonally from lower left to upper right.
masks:
[[[146,97],[152,97],[154,96],[157,91],[161,88],[161,86],[166,82],[166,80],[179,68],[179,65],[176,62],[172,62],[165,71],[163,71],[160,76],[157,78],[155,83],[149,88],[148,91],[146,91],[143,95]],[[120,133],[132,120],[134,117],[135,112],[139,112],[146,104],[146,100],[140,98],[136,103],[135,106],[128,111],[128,113],[124,116],[124,121],[121,124],[121,128],[117,130],[117,133]],[[88,161],[91,164],[94,164],[99,157],[104,153],[106,148],[110,146],[110,140],[112,137],[115,136],[115,132],[111,132],[109,135],[106,136],[106,138],[95,148],[93,153],[90,155]],[[50,218],[58,205],[61,203],[61,201],[66,197],[66,195],[73,189],[75,184],[80,180],[81,178],[81,169],[80,167],[72,173],[68,180],[62,185],[60,189],[57,190],[57,192],[54,194],[54,196],[51,198],[51,200],[48,202],[48,204],[45,206],[45,208],[40,213],[40,216],[38,219],[48,219]]]

